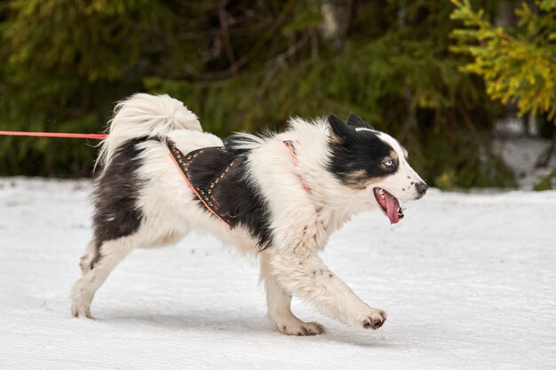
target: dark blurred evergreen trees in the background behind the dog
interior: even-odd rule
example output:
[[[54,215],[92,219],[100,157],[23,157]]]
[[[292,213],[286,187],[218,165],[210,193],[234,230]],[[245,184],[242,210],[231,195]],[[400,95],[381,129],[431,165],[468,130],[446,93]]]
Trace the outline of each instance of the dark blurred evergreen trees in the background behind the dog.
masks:
[[[513,185],[490,152],[500,106],[449,52],[451,4],[353,2],[338,50],[322,37],[325,3],[9,1],[0,127],[95,132],[136,91],[183,100],[221,136],[356,112],[400,138],[433,185]],[[86,174],[95,150],[60,140],[0,138],[0,173]]]

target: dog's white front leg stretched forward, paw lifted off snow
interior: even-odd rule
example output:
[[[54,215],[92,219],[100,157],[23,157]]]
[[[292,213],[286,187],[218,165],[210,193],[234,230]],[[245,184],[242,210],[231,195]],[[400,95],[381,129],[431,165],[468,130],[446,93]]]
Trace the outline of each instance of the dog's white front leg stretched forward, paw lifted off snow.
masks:
[[[316,253],[299,255],[282,249],[269,250],[267,256],[271,273],[287,292],[353,327],[377,329],[384,324],[385,312],[362,302]]]

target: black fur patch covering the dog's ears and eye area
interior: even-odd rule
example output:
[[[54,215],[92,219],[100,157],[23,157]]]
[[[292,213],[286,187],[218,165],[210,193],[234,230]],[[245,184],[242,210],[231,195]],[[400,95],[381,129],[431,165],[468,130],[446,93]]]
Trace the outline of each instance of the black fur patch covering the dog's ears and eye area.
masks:
[[[332,130],[329,144],[332,151],[328,166],[330,172],[346,185],[395,173],[397,165],[393,169],[383,165],[385,158],[393,152],[393,147],[378,138],[377,132],[369,131],[372,128],[361,117],[350,114],[349,121],[346,123],[335,115],[329,116]],[[356,127],[369,130],[358,131]]]

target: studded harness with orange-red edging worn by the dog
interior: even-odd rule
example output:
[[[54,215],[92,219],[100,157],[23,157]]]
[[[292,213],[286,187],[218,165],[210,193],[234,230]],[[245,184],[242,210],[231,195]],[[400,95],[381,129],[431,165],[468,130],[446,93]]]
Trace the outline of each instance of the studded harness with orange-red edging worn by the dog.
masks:
[[[293,146],[293,142],[291,140],[286,140],[283,143],[290,153],[291,161],[293,162],[294,167],[298,167],[298,158],[295,153],[295,146]],[[203,155],[206,154],[227,155],[226,146],[209,146],[196,149],[188,154],[183,154],[176,146],[176,143],[168,141],[167,145],[170,150],[172,161],[174,161],[176,166],[180,169],[179,172],[184,180],[186,180],[187,185],[189,185],[191,191],[195,194],[197,199],[203,203],[204,208],[208,209],[212,215],[216,216],[220,221],[227,224],[228,227],[231,228],[231,216],[220,212],[220,207],[218,205],[218,201],[214,198],[214,193],[222,178],[226,176],[230,169],[234,168],[234,165],[238,163],[238,161],[242,161],[242,159],[234,157],[231,161],[227,162],[226,168],[217,172],[217,175],[212,177],[209,181],[206,179],[204,181],[195,181],[191,176],[191,171],[195,168],[195,161],[198,161],[203,157]],[[309,189],[309,186],[306,185],[305,179],[299,174],[298,178],[305,192],[311,196],[311,190]]]

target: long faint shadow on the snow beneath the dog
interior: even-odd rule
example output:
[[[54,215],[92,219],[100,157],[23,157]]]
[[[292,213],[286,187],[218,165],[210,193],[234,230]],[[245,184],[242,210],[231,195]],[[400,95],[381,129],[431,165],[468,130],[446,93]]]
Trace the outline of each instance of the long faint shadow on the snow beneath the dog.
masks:
[[[278,333],[264,314],[252,315],[238,311],[186,311],[172,313],[147,313],[137,311],[110,311],[101,314],[97,322],[103,325],[124,327],[163,328],[169,333],[187,334],[191,331],[206,331],[243,335],[267,335],[277,339],[315,342],[335,342],[360,347],[395,347],[380,332],[357,331],[339,323],[328,321],[328,332],[315,336],[290,336]],[[332,325],[330,325],[332,324]]]

